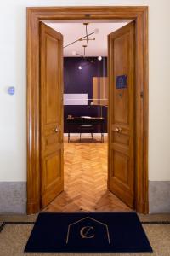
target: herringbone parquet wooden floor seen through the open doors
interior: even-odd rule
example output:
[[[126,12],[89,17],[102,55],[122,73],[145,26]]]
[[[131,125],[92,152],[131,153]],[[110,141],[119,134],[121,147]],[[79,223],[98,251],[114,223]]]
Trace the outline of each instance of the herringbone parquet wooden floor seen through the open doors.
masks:
[[[67,143],[65,138],[64,151],[65,191],[44,211],[131,211],[107,190],[107,142]]]

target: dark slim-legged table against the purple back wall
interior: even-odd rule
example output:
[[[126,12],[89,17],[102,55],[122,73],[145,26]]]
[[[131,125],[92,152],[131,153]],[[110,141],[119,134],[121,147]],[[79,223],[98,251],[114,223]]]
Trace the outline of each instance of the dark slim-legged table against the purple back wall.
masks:
[[[66,119],[68,124],[68,143],[70,143],[70,137],[71,137],[71,126],[77,125],[77,133],[80,132],[79,127],[81,125],[93,125],[99,126],[100,133],[101,133],[101,142],[104,143],[104,123],[105,118],[103,117],[68,117]]]

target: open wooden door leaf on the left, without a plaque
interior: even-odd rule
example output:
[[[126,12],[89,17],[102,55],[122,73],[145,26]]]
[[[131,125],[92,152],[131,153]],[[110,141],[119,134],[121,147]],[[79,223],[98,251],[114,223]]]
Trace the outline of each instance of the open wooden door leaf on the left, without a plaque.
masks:
[[[63,37],[41,22],[41,207],[64,189]]]

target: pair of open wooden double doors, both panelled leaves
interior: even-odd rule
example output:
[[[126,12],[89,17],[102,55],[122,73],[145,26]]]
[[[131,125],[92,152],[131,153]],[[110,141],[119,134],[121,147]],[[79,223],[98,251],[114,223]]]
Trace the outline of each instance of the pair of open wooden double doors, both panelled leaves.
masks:
[[[41,22],[41,207],[64,189],[63,36]],[[108,189],[134,207],[134,22],[108,35]]]

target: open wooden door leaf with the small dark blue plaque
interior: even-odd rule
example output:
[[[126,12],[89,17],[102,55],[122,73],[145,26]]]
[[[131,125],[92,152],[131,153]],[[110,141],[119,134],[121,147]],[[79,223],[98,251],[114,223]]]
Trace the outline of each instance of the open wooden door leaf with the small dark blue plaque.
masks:
[[[134,204],[134,22],[108,36],[108,189]]]

